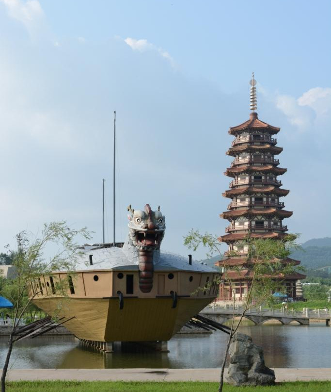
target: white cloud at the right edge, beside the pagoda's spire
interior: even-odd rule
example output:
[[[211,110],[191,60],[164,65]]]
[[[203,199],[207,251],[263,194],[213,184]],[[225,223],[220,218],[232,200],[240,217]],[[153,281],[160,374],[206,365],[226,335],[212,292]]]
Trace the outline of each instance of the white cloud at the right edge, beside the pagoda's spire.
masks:
[[[299,131],[305,131],[328,120],[331,113],[331,88],[314,87],[297,99],[288,95],[278,95],[276,106]]]

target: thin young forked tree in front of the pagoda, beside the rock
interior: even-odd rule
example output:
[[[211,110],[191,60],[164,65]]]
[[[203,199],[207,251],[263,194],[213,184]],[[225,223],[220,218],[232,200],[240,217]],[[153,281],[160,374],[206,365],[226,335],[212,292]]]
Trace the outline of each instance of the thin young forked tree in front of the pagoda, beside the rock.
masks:
[[[275,303],[275,298],[272,296],[272,293],[284,289],[284,282],[280,279],[280,276],[296,272],[292,264],[284,263],[283,261],[289,256],[292,249],[298,248],[298,245],[295,243],[296,238],[297,235],[288,234],[282,240],[252,239],[250,234],[248,234],[245,241],[248,244],[247,264],[249,264],[252,270],[252,280],[243,308],[241,309],[239,320],[235,326],[235,289],[231,278],[229,278],[227,265],[222,258],[220,242],[217,236],[209,233],[200,234],[199,230],[192,229],[184,237],[184,245],[193,251],[202,245],[208,249],[208,258],[212,257],[214,253],[219,254],[222,262],[222,275],[218,283],[221,283],[221,280],[227,282],[232,292],[233,317],[221,366],[219,392],[223,390],[225,363],[232,338],[240,326],[245,313],[252,306],[252,301],[254,302],[254,306],[260,304],[272,305]],[[232,255],[236,256],[236,253],[232,252]],[[236,270],[239,272],[238,267]],[[202,290],[204,289],[202,288]]]

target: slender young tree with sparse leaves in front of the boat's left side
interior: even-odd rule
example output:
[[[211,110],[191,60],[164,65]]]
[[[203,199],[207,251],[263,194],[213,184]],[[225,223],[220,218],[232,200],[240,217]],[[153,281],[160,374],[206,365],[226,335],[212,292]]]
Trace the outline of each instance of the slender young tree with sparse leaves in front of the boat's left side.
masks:
[[[23,314],[32,305],[32,299],[27,295],[27,285],[33,279],[41,275],[47,275],[52,271],[74,268],[77,256],[77,244],[74,242],[76,236],[85,239],[90,238],[86,228],[70,229],[66,222],[52,222],[45,224],[40,237],[35,238],[31,233],[21,231],[16,235],[17,248],[11,251],[12,264],[16,267],[16,278],[12,280],[8,297],[14,304],[13,326],[9,334],[8,351],[1,376],[1,392],[5,392],[5,379],[9,360],[15,343],[15,334]],[[58,251],[55,256],[46,258],[45,251],[49,252],[49,245],[56,245]],[[8,286],[9,287],[9,286]],[[56,285],[56,290],[66,296],[68,285],[62,281]]]

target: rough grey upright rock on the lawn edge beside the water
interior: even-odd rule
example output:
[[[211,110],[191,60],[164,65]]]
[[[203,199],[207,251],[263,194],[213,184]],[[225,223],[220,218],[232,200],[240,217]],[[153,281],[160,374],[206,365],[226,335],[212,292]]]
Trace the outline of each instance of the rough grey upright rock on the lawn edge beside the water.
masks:
[[[236,333],[229,349],[226,381],[231,385],[274,385],[275,372],[264,363],[263,348],[244,333]]]

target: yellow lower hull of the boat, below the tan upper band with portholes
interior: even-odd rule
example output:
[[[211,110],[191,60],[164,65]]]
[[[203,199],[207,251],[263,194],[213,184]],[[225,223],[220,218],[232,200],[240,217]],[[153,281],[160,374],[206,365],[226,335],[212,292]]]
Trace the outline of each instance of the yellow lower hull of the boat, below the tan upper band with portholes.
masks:
[[[211,297],[43,298],[33,303],[47,314],[65,317],[65,326],[79,339],[99,342],[168,341]]]

